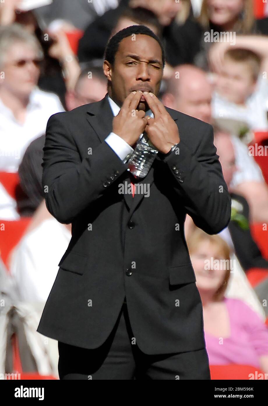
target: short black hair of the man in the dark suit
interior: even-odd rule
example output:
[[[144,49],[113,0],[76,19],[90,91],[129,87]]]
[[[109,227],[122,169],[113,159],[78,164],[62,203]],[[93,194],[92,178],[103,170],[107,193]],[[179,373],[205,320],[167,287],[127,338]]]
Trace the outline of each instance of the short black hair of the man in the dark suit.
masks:
[[[142,35],[148,35],[149,37],[152,37],[157,41],[161,47],[162,50],[162,63],[163,63],[163,68],[165,66],[165,50],[164,46],[161,42],[161,40],[155,35],[155,33],[150,30],[150,28],[143,26],[143,25],[136,25],[136,26],[130,26],[127,28],[124,28],[121,31],[118,31],[109,41],[105,49],[104,53],[104,60],[108,60],[109,63],[113,66],[115,62],[115,54],[118,51],[119,44],[122,41],[122,39],[130,37],[132,34],[142,34]]]

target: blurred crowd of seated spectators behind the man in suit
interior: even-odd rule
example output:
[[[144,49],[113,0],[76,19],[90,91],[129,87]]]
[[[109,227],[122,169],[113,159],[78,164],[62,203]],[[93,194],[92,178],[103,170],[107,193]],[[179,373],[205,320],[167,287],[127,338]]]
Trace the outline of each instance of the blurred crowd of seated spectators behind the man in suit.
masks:
[[[230,224],[218,235],[185,221],[210,365],[268,374],[268,5],[54,0],[22,10],[22,3],[0,2],[0,373],[14,371],[17,345],[24,372],[58,377],[56,342],[35,331],[71,238],[71,226],[44,202],[46,125],[52,114],[105,96],[108,39],[142,24],[166,50],[160,100],[213,125],[232,197]]]

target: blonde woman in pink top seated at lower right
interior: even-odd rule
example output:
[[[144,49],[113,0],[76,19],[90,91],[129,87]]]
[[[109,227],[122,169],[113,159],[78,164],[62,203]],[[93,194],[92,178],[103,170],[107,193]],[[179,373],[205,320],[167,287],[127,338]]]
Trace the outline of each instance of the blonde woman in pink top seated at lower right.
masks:
[[[252,365],[267,373],[268,330],[264,322],[242,300],[225,297],[230,278],[228,244],[218,235],[197,229],[188,247],[203,304],[210,365]]]

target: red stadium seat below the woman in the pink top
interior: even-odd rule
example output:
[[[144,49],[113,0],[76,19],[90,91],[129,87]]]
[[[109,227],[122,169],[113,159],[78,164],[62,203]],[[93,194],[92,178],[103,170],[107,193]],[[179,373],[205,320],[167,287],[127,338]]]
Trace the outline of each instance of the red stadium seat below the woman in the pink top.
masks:
[[[258,379],[264,376],[264,372],[251,365],[210,365],[211,379],[242,379],[249,380],[251,374],[253,374],[253,379]],[[262,374],[262,375],[259,375]],[[264,378],[263,378],[264,379]]]

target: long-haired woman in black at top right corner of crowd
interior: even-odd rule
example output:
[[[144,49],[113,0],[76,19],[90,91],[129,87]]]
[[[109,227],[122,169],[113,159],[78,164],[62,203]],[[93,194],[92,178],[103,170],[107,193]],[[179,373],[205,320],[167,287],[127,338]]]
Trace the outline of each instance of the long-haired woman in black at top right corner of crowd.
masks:
[[[198,20],[187,19],[174,32],[174,47],[177,49],[174,60],[177,61],[173,65],[191,63],[208,70],[209,52],[226,41],[219,42],[215,35],[227,33],[230,36],[231,33],[231,36],[235,35],[232,42],[237,43],[240,35],[268,35],[267,22],[268,18],[254,18],[253,0],[204,0]]]

